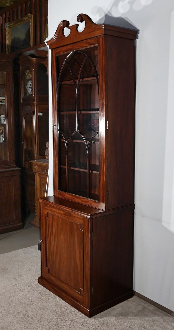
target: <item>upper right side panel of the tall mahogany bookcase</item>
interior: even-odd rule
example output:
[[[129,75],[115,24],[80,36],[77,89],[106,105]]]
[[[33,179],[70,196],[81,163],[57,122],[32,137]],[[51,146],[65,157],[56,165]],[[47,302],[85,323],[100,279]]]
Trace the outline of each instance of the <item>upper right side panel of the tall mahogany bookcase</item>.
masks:
[[[106,209],[112,209],[134,201],[134,41],[107,36],[107,53]]]

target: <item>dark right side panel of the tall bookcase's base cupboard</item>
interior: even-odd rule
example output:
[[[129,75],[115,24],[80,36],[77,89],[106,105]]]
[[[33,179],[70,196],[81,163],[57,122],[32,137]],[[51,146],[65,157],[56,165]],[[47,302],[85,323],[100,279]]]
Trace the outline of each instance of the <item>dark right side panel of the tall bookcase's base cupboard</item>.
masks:
[[[93,306],[132,290],[133,211],[93,219]]]

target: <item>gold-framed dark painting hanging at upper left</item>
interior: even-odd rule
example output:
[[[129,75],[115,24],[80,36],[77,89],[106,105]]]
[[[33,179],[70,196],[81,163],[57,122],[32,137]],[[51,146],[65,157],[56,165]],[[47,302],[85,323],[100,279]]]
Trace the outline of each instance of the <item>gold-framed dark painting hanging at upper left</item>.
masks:
[[[33,46],[33,15],[5,24],[6,53],[13,53]]]

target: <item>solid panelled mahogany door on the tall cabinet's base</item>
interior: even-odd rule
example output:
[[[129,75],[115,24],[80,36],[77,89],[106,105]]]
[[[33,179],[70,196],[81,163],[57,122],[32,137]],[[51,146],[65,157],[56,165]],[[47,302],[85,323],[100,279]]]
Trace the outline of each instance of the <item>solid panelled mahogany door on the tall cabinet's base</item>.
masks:
[[[89,259],[86,248],[89,235],[84,232],[85,220],[88,221],[82,216],[60,210],[49,210],[43,215],[41,210],[42,278],[81,303],[87,293],[84,292],[87,282],[84,250]]]

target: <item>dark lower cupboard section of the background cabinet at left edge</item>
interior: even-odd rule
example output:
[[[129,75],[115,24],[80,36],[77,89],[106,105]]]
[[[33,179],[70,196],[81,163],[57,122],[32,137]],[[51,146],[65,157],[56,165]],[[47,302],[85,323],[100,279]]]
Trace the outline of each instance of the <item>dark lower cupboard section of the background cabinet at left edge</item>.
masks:
[[[0,234],[22,228],[20,169],[0,170]]]

